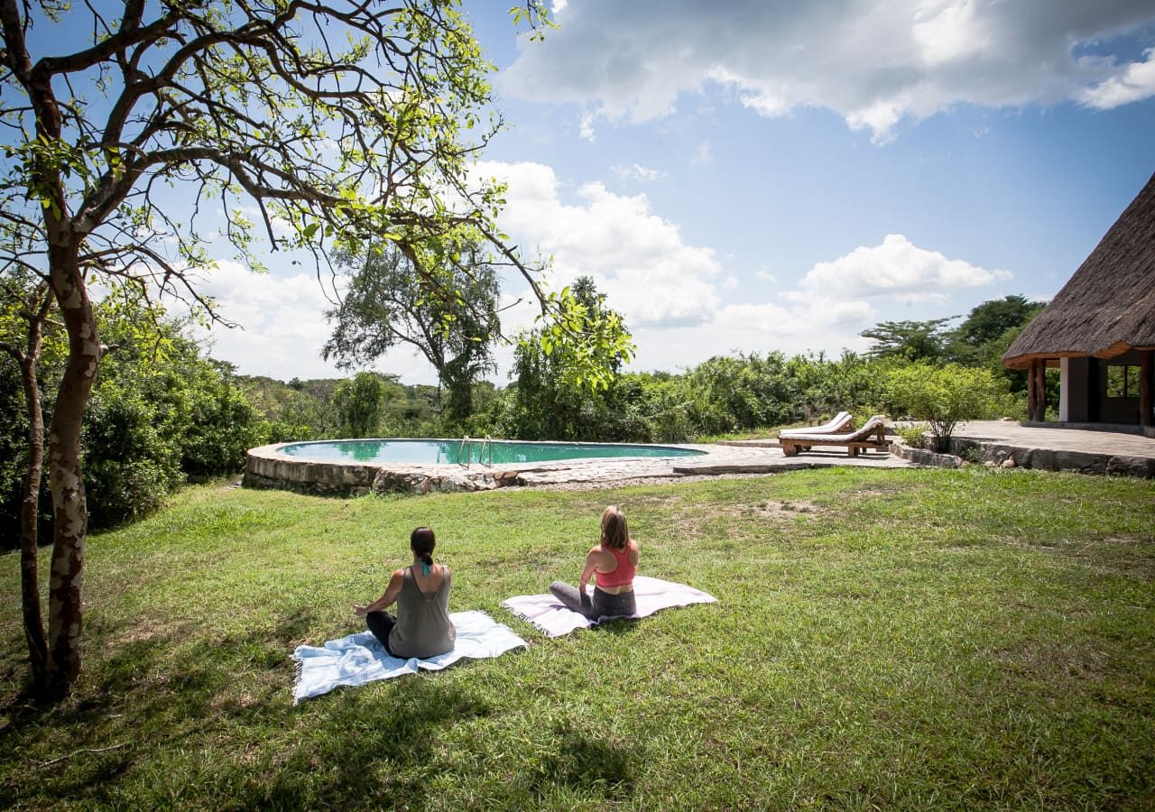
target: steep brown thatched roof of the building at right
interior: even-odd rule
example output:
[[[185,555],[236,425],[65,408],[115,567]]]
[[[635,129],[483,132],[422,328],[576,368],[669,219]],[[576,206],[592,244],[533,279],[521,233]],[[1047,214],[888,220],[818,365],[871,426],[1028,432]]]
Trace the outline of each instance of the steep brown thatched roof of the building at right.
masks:
[[[1003,364],[1113,358],[1132,348],[1155,348],[1155,176],[1011,344]]]

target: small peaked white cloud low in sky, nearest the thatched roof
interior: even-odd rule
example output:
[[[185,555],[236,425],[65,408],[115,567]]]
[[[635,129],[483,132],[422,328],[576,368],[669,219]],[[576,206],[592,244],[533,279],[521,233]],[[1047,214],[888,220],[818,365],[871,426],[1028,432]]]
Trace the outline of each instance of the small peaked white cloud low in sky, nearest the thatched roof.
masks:
[[[887,234],[880,245],[859,246],[836,260],[817,263],[799,282],[799,290],[783,296],[793,301],[811,301],[818,296],[842,301],[878,296],[902,304],[945,301],[946,291],[1008,278],[1008,271],[948,260],[902,234]]]

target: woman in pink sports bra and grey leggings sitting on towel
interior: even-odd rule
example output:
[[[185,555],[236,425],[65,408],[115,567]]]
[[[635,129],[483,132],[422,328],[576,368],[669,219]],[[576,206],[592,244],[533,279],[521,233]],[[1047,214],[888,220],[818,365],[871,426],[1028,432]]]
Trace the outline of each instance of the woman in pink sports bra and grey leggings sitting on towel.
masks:
[[[610,505],[602,513],[602,539],[586,554],[578,588],[554,581],[550,591],[566,608],[590,620],[633,614],[638,609],[634,603],[638,558],[638,542],[629,537],[626,514]],[[586,591],[590,576],[595,578],[593,597]]]

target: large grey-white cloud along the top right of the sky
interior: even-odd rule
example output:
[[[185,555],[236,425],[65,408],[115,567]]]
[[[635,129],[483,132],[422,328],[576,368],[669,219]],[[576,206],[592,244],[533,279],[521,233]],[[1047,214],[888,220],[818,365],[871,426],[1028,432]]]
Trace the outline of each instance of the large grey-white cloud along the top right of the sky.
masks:
[[[501,75],[508,91],[634,122],[672,112],[710,83],[762,116],[837,112],[875,141],[907,118],[955,104],[1064,99],[1110,107],[1155,95],[1155,64],[1086,55],[1155,20],[1138,0],[985,2],[860,0],[589,0],[526,47]]]

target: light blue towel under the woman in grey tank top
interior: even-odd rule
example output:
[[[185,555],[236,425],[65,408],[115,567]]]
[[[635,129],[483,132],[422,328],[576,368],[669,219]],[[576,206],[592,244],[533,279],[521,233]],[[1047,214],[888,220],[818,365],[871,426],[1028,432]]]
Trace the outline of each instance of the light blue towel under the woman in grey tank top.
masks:
[[[292,688],[293,705],[310,696],[320,696],[338,685],[364,685],[378,679],[415,673],[423,668],[440,671],[462,657],[482,660],[497,657],[526,641],[485,612],[450,612],[457,630],[452,650],[435,657],[401,660],[390,657],[372,632],[359,632],[330,640],[325,646],[298,646],[292,653],[297,661],[297,681]]]

